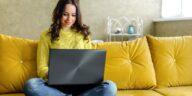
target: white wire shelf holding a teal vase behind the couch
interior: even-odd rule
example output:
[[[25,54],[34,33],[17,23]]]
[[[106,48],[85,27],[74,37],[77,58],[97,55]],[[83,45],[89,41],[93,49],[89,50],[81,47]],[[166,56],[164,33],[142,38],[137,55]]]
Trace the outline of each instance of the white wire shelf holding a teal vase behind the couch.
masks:
[[[107,41],[124,41],[127,37],[129,40],[143,35],[143,20],[139,17],[107,18]],[[113,40],[112,40],[113,39]]]

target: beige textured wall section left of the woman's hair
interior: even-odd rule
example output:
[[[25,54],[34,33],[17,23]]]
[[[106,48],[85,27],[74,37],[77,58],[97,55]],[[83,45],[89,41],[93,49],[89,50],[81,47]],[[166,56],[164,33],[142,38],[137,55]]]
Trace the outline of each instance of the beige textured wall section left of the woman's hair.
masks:
[[[38,39],[51,22],[55,0],[0,0],[0,33]]]

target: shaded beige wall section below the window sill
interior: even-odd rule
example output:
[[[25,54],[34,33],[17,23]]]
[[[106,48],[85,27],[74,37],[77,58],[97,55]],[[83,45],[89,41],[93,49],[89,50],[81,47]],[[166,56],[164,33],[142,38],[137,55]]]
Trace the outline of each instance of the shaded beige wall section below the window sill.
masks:
[[[156,36],[192,35],[192,20],[155,22]]]

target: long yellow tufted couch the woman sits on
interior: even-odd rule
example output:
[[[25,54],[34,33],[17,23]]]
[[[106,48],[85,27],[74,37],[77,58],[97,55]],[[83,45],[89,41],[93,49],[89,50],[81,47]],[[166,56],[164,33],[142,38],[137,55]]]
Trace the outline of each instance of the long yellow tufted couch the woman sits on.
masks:
[[[192,36],[145,36],[95,43],[106,49],[105,79],[117,96],[192,96]],[[0,34],[0,96],[24,96],[26,80],[37,76],[37,41]]]

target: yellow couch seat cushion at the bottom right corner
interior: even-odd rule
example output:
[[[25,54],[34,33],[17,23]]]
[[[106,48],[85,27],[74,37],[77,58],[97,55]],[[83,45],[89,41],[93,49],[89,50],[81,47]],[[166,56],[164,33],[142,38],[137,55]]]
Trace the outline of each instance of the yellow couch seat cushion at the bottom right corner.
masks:
[[[165,96],[192,96],[192,86],[166,87],[155,89]]]

